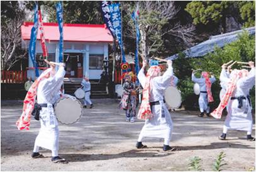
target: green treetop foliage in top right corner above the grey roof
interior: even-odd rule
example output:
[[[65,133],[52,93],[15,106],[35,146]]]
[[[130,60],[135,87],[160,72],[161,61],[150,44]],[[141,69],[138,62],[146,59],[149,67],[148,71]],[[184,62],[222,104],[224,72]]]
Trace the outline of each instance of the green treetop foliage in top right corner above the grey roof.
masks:
[[[221,25],[224,33],[228,16],[245,27],[255,26],[255,1],[192,1],[185,10],[194,24]]]

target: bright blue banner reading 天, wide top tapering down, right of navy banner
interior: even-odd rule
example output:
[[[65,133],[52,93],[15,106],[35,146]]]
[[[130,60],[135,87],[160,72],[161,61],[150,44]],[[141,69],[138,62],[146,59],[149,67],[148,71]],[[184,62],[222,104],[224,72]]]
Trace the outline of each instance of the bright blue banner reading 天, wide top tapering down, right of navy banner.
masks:
[[[116,35],[116,39],[118,39],[118,44],[121,49],[122,63],[126,63],[125,51],[123,50],[122,31],[121,31],[122,22],[121,22],[120,4],[119,3],[110,4],[108,7],[109,7],[111,23],[114,29],[114,34]]]

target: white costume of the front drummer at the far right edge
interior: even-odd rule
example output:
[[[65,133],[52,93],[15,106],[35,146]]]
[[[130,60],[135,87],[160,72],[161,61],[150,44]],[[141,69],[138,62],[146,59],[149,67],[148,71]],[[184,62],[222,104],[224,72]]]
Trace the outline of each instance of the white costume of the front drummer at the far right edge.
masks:
[[[232,74],[232,73],[231,73]],[[220,75],[221,81],[228,85],[230,78],[228,78],[224,71]],[[244,96],[246,99],[242,100],[242,107],[238,108],[238,99],[230,99],[226,106],[228,115],[226,116],[224,124],[224,132],[227,129],[237,129],[247,131],[247,134],[252,132],[252,106],[250,100],[247,98],[250,89],[255,85],[255,68],[252,68],[248,76],[238,79],[236,89],[233,91],[231,97]]]

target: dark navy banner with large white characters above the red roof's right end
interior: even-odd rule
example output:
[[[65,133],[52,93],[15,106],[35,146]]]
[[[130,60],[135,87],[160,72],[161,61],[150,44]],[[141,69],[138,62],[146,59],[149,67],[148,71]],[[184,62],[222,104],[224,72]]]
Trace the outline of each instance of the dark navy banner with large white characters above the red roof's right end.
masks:
[[[111,3],[109,1],[102,1],[101,3],[101,12],[103,13],[103,20],[104,23],[106,23],[107,28],[109,29],[111,35],[113,36],[113,38],[115,38],[116,36],[114,35],[114,28],[111,22],[111,16],[110,16],[110,11],[109,11],[109,5]]]

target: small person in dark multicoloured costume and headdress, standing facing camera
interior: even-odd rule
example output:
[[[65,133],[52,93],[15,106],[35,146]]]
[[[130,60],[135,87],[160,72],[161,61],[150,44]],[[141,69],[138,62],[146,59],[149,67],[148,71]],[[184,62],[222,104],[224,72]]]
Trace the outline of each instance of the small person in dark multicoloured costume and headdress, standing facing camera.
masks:
[[[120,107],[125,110],[126,122],[135,122],[136,118],[136,86],[131,81],[133,73],[130,72],[125,76],[125,83],[123,83],[123,96],[120,102]]]

